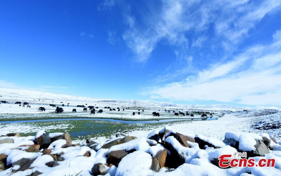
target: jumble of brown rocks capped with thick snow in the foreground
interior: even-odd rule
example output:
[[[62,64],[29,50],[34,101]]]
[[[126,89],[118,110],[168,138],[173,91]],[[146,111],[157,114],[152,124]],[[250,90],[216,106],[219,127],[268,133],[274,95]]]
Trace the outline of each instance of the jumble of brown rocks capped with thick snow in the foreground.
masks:
[[[66,133],[0,138],[0,175],[281,175],[281,145],[268,134],[226,133],[223,141],[169,127],[147,138],[118,133],[106,142],[71,144]],[[275,167],[220,168],[219,156],[275,159]]]

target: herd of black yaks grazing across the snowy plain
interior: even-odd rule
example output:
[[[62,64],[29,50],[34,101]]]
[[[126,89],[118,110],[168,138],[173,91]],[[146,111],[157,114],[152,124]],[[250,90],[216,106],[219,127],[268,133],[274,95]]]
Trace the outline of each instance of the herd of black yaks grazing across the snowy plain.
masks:
[[[1,101],[1,103],[7,103],[7,101]],[[22,104],[22,102],[20,102],[20,101],[17,101],[15,104],[19,104],[19,106],[21,106],[21,104]],[[69,103],[67,103],[67,106],[68,106],[68,104]],[[25,105],[27,105],[27,107],[31,107],[30,105],[29,105],[29,103],[27,103],[27,102],[24,102],[23,103],[23,105],[22,105],[22,107],[25,107]],[[87,104],[86,104],[87,105]],[[62,113],[63,112],[63,109],[62,108],[60,108],[59,106],[56,106],[55,104],[50,104],[50,106],[52,106],[52,107],[56,107],[56,110],[55,110],[55,112],[56,113]],[[62,106],[64,106],[64,104],[62,104]],[[96,108],[94,107],[94,106],[88,106],[87,108],[84,106],[84,105],[77,105],[76,107],[81,107],[81,108],[83,108],[83,112],[87,112],[88,111],[88,109],[87,108],[89,108],[89,110],[91,110],[91,114],[95,114],[95,112],[96,112],[96,109],[98,109],[99,107],[97,107],[96,106]],[[116,109],[115,108],[111,108],[110,106],[105,106],[104,107],[104,109],[109,109],[109,111],[116,111],[116,109],[117,109],[117,111],[120,111],[120,108],[119,107],[117,107]],[[128,108],[126,108],[126,109],[129,109],[129,107]],[[46,109],[44,108],[44,107],[39,107],[38,108],[38,111],[45,111]],[[125,109],[123,108],[123,111],[125,111]],[[138,109],[138,111],[140,111],[140,109]],[[160,111],[160,110],[158,110],[158,111]],[[72,109],[72,112],[76,112],[76,109]],[[103,110],[102,109],[100,109],[100,110],[98,110],[98,112],[97,113],[102,113],[103,112]],[[144,110],[142,110],[142,112],[144,112]],[[165,112],[168,112],[168,113],[170,113],[170,110],[166,110],[165,109]],[[205,113],[210,113],[210,112],[204,112],[204,111],[191,111],[191,112],[193,112],[193,113],[197,113],[197,114],[201,114],[201,113],[203,113],[202,115],[201,115],[201,117],[207,117],[207,115],[205,114]],[[173,110],[173,113],[175,113],[175,116],[179,116],[179,115],[183,115],[183,116],[185,116],[185,115],[190,115],[190,117],[194,117],[194,115],[193,114],[189,114],[188,113],[188,111],[186,111],[186,113],[184,113],[184,112],[175,112],[175,110]],[[138,115],[140,115],[141,113],[140,112],[138,112]],[[224,114],[224,113],[223,113]],[[133,112],[133,115],[136,115],[136,113],[135,112]],[[152,112],[152,115],[153,116],[160,116],[160,114],[159,113],[156,113],[156,112]],[[210,115],[212,116],[212,113],[210,113]]]

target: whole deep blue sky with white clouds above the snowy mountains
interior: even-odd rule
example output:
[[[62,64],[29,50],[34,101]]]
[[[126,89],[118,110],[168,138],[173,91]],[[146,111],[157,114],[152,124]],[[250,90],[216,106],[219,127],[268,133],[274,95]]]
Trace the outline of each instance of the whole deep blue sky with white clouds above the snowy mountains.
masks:
[[[1,1],[0,87],[281,107],[280,1]]]

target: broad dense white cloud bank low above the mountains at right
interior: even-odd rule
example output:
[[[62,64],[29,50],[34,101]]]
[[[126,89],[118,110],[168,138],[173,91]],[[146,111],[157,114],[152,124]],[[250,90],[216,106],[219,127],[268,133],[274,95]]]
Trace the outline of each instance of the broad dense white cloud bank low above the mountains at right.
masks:
[[[216,100],[281,105],[281,42],[255,46],[228,63],[210,65],[185,81],[149,87],[144,95],[169,100]]]

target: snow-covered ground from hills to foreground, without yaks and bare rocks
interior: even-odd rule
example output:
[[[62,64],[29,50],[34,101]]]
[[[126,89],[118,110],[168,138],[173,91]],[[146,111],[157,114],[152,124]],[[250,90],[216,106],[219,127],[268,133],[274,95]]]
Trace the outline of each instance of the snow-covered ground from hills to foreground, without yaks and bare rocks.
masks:
[[[0,105],[0,121],[22,120],[22,122],[16,123],[0,123],[0,135],[8,133],[20,133],[21,136],[29,135],[28,137],[1,137],[0,141],[12,138],[14,143],[0,144],[0,154],[8,156],[6,162],[9,164],[22,158],[35,159],[28,166],[31,169],[21,170],[18,169],[18,165],[13,165],[12,167],[5,165],[5,168],[2,168],[2,170],[7,170],[0,172],[0,175],[31,175],[36,170],[43,173],[42,175],[89,175],[92,173],[92,167],[97,163],[106,164],[102,165],[102,167],[105,167],[107,175],[281,175],[281,145],[279,145],[281,144],[281,112],[279,110],[257,110],[229,105],[177,105],[155,101],[93,100],[87,97],[10,89],[0,89],[0,95],[2,96],[0,101],[8,102],[6,104],[1,103]],[[14,104],[16,101],[21,101],[22,104],[23,102],[28,102],[31,108],[16,105]],[[69,107],[67,107],[67,103],[69,103]],[[64,104],[65,106],[62,107],[64,112],[60,114],[55,113],[56,108],[49,106],[49,104],[59,105],[60,107]],[[90,114],[89,110],[83,112],[83,108],[76,107],[76,105],[85,105],[86,107],[93,105],[95,107],[98,106],[99,109],[96,109],[96,114],[93,115]],[[104,106],[115,108],[116,111],[104,109]],[[38,107],[45,107],[46,111],[38,111]],[[117,107],[121,111],[118,112]],[[128,107],[129,109],[126,109]],[[123,111],[123,108],[125,111]],[[76,109],[77,112],[72,112],[72,109]],[[103,109],[101,114],[97,113],[97,110],[100,109]],[[140,109],[140,115],[138,115],[138,109]],[[171,112],[165,112],[165,109]],[[194,114],[195,117],[175,116],[173,110],[185,113],[188,111],[189,114]],[[159,112],[160,117],[153,117],[152,112],[154,111]],[[202,113],[197,114],[192,111],[208,111],[214,115],[210,118],[210,113],[207,113],[208,120],[204,120],[200,119]],[[136,115],[133,116],[132,112],[136,112]],[[225,114],[223,115],[223,113]],[[94,118],[101,120],[70,120],[71,118]],[[136,123],[138,120],[179,118],[185,118],[186,120]],[[65,120],[29,121],[47,119]],[[105,119],[111,119],[111,121],[106,121]],[[131,121],[123,123],[114,120]],[[237,152],[236,149],[228,145],[225,147],[220,145],[221,149],[214,149],[212,147],[200,149],[196,142],[190,141],[187,141],[190,148],[185,148],[182,145],[178,145],[177,139],[167,136],[167,142],[170,142],[178,153],[183,154],[185,164],[174,169],[162,167],[159,172],[155,172],[150,169],[152,157],[155,157],[157,151],[163,150],[167,146],[161,143],[161,141],[159,141],[159,144],[155,143],[155,141],[147,141],[146,137],[155,129],[161,131],[167,125],[169,125],[167,129],[170,131],[178,132],[191,138],[199,136],[206,140],[211,139],[210,141],[220,140],[220,143],[225,139],[226,133],[233,134],[233,136],[234,134],[239,134],[235,138],[239,139],[241,137],[241,148],[244,147],[245,149],[253,148],[248,139],[254,141],[252,139],[254,134],[268,138],[269,136],[273,137],[278,144],[271,142],[270,153],[266,154],[264,158],[275,158],[275,168],[220,169],[212,164],[212,157],[218,157],[218,154]],[[48,144],[47,148],[52,150],[51,154],[43,154],[43,150],[41,152],[26,152],[25,150],[28,147],[20,146],[34,144],[34,136],[36,136],[39,130],[44,130],[50,137],[69,132],[72,144],[79,144],[81,146],[62,148],[65,147],[65,140],[59,139],[52,142],[52,144]],[[60,133],[58,134],[57,132]],[[241,132],[250,132],[253,135],[245,137]],[[56,134],[52,135],[52,133]],[[116,133],[125,133],[126,135],[135,136],[137,139],[132,140],[133,142],[129,141],[124,144],[114,145],[109,149],[100,149],[104,144],[108,143],[108,140],[116,140],[118,136],[120,139],[124,137],[115,135]],[[42,134],[42,131],[39,134]],[[86,139],[92,139],[99,144],[95,145],[95,147],[90,146],[89,143],[86,143]],[[129,152],[117,165],[118,167],[110,166],[107,163],[108,154],[111,151],[121,149],[136,151]],[[57,161],[56,157],[52,154],[56,154],[56,157],[59,157],[60,160]],[[254,158],[257,160],[262,157]],[[54,162],[56,166],[48,167],[45,165],[48,162]],[[15,170],[18,171],[15,172]]]

